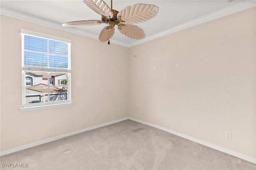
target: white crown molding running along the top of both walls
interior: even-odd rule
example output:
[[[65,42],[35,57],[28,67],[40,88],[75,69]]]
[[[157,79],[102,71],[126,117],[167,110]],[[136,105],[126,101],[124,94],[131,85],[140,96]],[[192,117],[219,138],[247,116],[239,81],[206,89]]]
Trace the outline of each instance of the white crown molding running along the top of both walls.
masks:
[[[244,9],[250,8],[250,7],[255,6],[255,5],[256,5],[256,1],[254,1],[254,0],[244,0],[242,2],[236,3],[232,6],[228,6],[226,8],[221,9],[221,10],[212,12],[212,13],[207,14],[205,16],[202,16],[200,18],[196,18],[194,20],[190,20],[186,23],[182,23],[182,24],[177,25],[175,27],[172,27],[170,29],[166,29],[166,30],[164,30],[160,33],[148,36],[145,39],[137,40],[134,43],[124,43],[122,41],[117,41],[115,39],[111,39],[111,43],[116,44],[116,45],[121,45],[121,46],[124,46],[124,47],[133,47],[135,45],[139,45],[141,43],[145,43],[147,41],[151,41],[153,39],[163,37],[165,35],[180,31],[182,29],[186,29],[186,28],[198,25],[200,23],[204,23],[204,22],[207,22],[207,21],[210,21],[210,20],[214,20],[216,18],[220,18],[222,16],[226,16],[226,15],[232,14],[234,12],[244,10]],[[35,17],[35,16],[30,16],[30,15],[23,14],[23,13],[20,13],[20,12],[16,12],[16,11],[13,11],[13,10],[9,10],[9,9],[6,9],[6,8],[0,8],[0,14],[3,15],[3,16],[8,16],[8,17],[24,20],[24,21],[36,23],[36,24],[39,24],[39,25],[52,27],[52,28],[59,29],[59,30],[62,30],[62,31],[75,33],[75,34],[82,35],[82,36],[85,36],[85,37],[98,39],[98,36],[93,35],[92,33],[88,33],[88,32],[85,32],[83,30],[76,29],[74,27],[62,27],[62,24],[60,24],[60,23],[55,23],[55,22],[52,22],[52,21],[49,21],[49,20],[44,20],[42,18],[38,18],[38,17]]]

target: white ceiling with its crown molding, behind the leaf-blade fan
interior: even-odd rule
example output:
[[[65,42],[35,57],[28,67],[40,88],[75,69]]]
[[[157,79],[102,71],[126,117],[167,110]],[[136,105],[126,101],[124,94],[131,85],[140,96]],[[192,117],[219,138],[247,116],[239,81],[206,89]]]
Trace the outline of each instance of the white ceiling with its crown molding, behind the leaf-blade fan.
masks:
[[[110,6],[110,0],[105,0]],[[116,29],[111,43],[131,47],[187,27],[254,6],[254,0],[113,0],[113,9],[122,10],[132,4],[159,6],[158,15],[136,24],[146,34],[143,40],[130,39]],[[78,20],[101,20],[82,0],[1,0],[0,13],[26,21],[70,31],[97,39],[106,24],[88,27],[62,27],[62,23]]]

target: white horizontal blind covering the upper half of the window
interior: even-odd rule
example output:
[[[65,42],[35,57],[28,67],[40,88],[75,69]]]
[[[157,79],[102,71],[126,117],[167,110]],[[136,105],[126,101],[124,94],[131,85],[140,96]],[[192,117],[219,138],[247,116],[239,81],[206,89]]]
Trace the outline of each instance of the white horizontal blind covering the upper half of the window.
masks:
[[[70,43],[22,33],[22,68],[70,72]]]

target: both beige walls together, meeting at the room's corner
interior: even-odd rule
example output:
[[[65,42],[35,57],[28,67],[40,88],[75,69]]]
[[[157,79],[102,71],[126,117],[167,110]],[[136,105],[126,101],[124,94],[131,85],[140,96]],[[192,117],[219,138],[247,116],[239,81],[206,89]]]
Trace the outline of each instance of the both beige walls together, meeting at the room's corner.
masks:
[[[1,16],[1,151],[130,116],[256,158],[255,10],[131,48]],[[72,106],[19,111],[20,28],[72,39]]]

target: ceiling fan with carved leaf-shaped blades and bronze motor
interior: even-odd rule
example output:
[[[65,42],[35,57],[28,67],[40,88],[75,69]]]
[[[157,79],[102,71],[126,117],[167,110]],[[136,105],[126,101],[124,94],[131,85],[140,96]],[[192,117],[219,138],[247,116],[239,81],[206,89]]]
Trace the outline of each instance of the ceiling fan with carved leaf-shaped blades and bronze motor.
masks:
[[[98,40],[110,44],[110,38],[114,35],[115,25],[118,31],[126,37],[133,39],[143,39],[146,37],[144,31],[133,23],[140,23],[154,18],[158,13],[159,7],[152,4],[134,4],[127,6],[120,12],[112,9],[103,0],[83,0],[83,2],[96,13],[101,15],[101,20],[84,20],[72,21],[62,24],[65,27],[80,27],[98,25],[102,23],[108,24],[104,27],[99,35]]]

